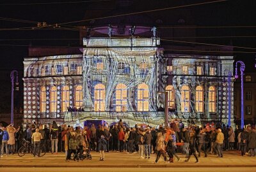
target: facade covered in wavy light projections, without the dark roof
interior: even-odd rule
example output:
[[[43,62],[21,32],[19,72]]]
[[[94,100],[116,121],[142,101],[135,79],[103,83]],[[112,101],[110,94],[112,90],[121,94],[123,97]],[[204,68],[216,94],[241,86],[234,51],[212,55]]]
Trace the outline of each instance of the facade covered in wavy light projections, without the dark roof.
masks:
[[[170,120],[227,120],[233,57],[165,54],[159,38],[84,38],[83,45],[83,55],[24,60],[24,122],[122,118],[159,125],[164,95],[157,92],[163,91]]]

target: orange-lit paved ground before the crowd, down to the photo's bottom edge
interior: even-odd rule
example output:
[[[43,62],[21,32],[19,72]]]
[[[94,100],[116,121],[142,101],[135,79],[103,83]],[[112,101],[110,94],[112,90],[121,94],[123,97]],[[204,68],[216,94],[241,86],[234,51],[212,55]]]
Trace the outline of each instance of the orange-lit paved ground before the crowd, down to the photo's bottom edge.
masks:
[[[109,152],[105,154],[105,161],[99,161],[99,153],[92,152],[92,160],[84,160],[80,162],[65,162],[65,154],[59,153],[52,155],[47,153],[44,157],[33,157],[31,154],[19,157],[18,155],[4,156],[0,159],[1,171],[53,171],[54,168],[61,171],[100,171],[100,168],[109,169],[108,171],[169,171],[173,168],[175,171],[205,171],[207,168],[211,170],[233,171],[231,169],[243,169],[243,171],[256,171],[256,157],[241,157],[238,152],[225,152],[223,158],[217,158],[216,155],[209,157],[201,157],[200,162],[195,164],[194,157],[189,162],[184,162],[184,155],[179,154],[181,159],[177,162],[166,164],[163,159],[159,160],[159,164],[154,164],[156,155],[153,154],[150,159],[139,159],[137,154],[126,154],[125,152]],[[186,168],[186,169],[184,169]],[[219,170],[218,170],[219,171]]]

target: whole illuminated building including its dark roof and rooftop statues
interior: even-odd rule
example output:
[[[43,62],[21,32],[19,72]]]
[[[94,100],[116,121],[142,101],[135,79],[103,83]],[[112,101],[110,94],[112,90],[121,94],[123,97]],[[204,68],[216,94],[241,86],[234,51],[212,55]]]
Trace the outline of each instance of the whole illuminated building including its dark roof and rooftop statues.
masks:
[[[118,9],[131,6],[132,1],[125,2],[117,3]],[[227,80],[234,58],[223,53],[232,47],[166,41],[183,35],[193,41],[196,31],[175,29],[186,23],[183,15],[166,24],[162,15],[88,20],[79,48],[31,48],[24,59],[24,122],[83,125],[98,119],[110,124],[122,118],[129,125],[159,125],[164,94],[157,93],[164,91],[169,120],[227,123],[228,109],[233,119],[233,82]]]

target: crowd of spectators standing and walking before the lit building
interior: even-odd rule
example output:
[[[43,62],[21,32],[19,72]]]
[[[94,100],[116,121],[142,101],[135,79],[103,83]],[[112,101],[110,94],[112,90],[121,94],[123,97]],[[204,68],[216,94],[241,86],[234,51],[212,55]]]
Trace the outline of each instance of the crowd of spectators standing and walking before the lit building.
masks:
[[[186,155],[186,162],[191,155],[195,162],[199,157],[208,157],[214,154],[224,157],[223,151],[239,150],[244,156],[255,156],[256,130],[254,126],[233,129],[226,125],[214,126],[206,124],[204,127],[196,125],[184,126],[180,120],[172,120],[170,126],[159,125],[154,127],[135,125],[125,127],[122,120],[115,125],[102,125],[87,127],[58,126],[53,122],[49,128],[47,125],[28,125],[23,131],[22,127],[15,129],[13,125],[0,129],[1,157],[15,154],[21,146],[21,140],[25,138],[34,145],[35,150],[40,149],[40,142],[44,142],[47,152],[58,154],[65,152],[66,161],[81,161],[84,152],[96,151],[100,154],[100,161],[104,161],[105,152],[125,152],[126,154],[138,154],[140,159],[150,159],[151,154],[156,154],[155,163],[163,156],[165,162],[174,162],[174,157],[180,161],[177,152]],[[72,154],[74,154],[72,156]],[[72,158],[73,157],[73,158]],[[167,158],[169,157],[169,159]]]

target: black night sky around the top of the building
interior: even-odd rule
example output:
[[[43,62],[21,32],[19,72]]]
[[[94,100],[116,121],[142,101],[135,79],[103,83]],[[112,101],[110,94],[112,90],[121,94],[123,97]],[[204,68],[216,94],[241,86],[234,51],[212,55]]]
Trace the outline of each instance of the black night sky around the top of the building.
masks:
[[[90,1],[90,0],[87,0]],[[116,0],[117,1],[117,0]],[[162,0],[163,1],[163,0]],[[171,6],[180,6],[186,4],[209,2],[207,0],[134,0],[131,9],[126,11],[145,11],[159,8],[167,8]],[[213,1],[213,0],[211,0]],[[72,3],[73,2],[73,3]],[[36,27],[37,22],[47,22],[47,24],[60,24],[62,22],[70,22],[83,20],[87,10],[104,10],[110,6],[115,6],[115,1],[90,1],[88,3],[78,3],[77,0],[34,0],[34,1],[6,1],[1,0],[0,3],[0,51],[1,63],[0,82],[6,84],[9,89],[10,71],[18,69],[22,71],[22,61],[24,57],[28,57],[28,46],[79,46],[79,32],[65,31],[62,29],[32,29]],[[144,5],[141,2],[145,2]],[[168,2],[168,3],[166,3]],[[36,4],[35,4],[36,3]],[[40,4],[50,3],[50,4]],[[145,5],[150,4],[150,5]],[[167,4],[167,6],[166,6]],[[196,33],[200,37],[216,37],[219,38],[197,38],[197,42],[216,43],[221,45],[232,45],[237,47],[256,48],[256,1],[247,0],[230,0],[212,4],[204,4],[184,8],[190,10],[193,24],[198,26],[218,26],[217,28],[202,28]],[[170,10],[172,11],[172,10]],[[168,13],[168,10],[164,11]],[[159,15],[161,11],[151,13],[151,15]],[[102,16],[105,17],[106,15]],[[14,19],[28,20],[28,22],[10,21]],[[168,18],[172,18],[169,16]],[[166,18],[165,18],[166,20]],[[84,25],[83,22],[70,24],[72,26]],[[237,28],[220,28],[223,26],[255,26],[255,27],[237,27]],[[11,28],[26,27],[24,31],[12,30]],[[8,29],[9,31],[6,31]],[[220,37],[225,38],[220,38]],[[243,36],[237,38],[237,36]],[[246,36],[246,37],[244,37]],[[47,40],[43,40],[47,39]],[[61,40],[60,40],[61,39]],[[252,54],[234,53],[235,59],[243,60],[246,64],[246,71],[253,72],[255,64],[256,49],[234,48],[237,52],[255,52]],[[6,71],[7,75],[5,72]],[[4,86],[5,88],[5,86]],[[7,92],[3,97],[10,97],[10,90],[1,90]],[[22,95],[22,93],[21,93]],[[6,98],[8,99],[8,98]],[[1,99],[0,99],[1,102]],[[3,108],[2,108],[3,109]],[[1,108],[0,108],[1,111]]]

